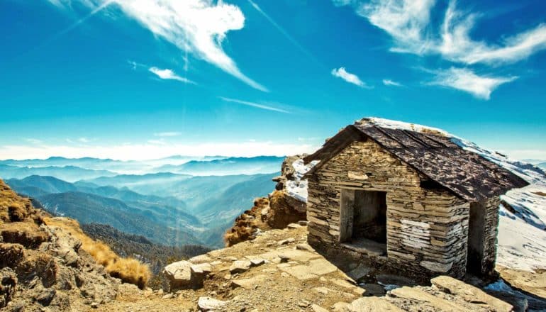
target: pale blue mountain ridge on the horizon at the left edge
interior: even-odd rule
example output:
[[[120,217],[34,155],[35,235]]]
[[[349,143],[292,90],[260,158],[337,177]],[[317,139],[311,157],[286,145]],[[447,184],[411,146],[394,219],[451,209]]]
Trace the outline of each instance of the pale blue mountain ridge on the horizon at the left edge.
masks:
[[[13,165],[0,164],[0,177],[2,179],[22,179],[31,175],[51,176],[74,182],[79,179],[111,177],[116,175],[116,173],[107,170],[93,170],[75,166],[16,167]]]

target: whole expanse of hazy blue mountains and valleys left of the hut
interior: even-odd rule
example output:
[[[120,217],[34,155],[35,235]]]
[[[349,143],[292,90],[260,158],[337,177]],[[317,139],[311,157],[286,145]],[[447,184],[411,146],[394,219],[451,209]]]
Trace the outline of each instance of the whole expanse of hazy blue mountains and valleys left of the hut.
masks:
[[[118,162],[116,160],[70,160],[63,157],[29,160],[28,163],[5,160],[0,161],[0,177],[6,179],[2,168],[11,172],[18,170],[20,175],[13,178],[12,174],[7,176],[10,179],[6,179],[6,183],[15,191],[32,197],[35,204],[51,213],[75,218],[82,224],[109,225],[165,245],[206,244],[221,247],[223,233],[233,219],[250,208],[255,197],[274,189],[272,177],[277,175],[275,172],[279,170],[283,158],[210,158],[207,161],[190,160],[171,167],[158,167],[161,170],[176,169],[177,172],[148,174],[116,174],[72,165],[51,166],[67,163],[82,166],[113,164]],[[169,161],[182,159],[184,157],[172,157]],[[67,174],[67,170],[79,170],[84,174],[76,177]],[[228,174],[230,172],[238,174]],[[272,173],[249,174],[252,172]]]

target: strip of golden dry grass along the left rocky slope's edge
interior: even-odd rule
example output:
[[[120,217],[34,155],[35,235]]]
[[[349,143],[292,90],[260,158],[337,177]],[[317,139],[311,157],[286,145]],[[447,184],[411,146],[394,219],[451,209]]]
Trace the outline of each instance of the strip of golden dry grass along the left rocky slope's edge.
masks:
[[[136,259],[122,258],[116,255],[108,245],[99,240],[93,240],[85,235],[79,223],[69,218],[45,218],[47,225],[57,226],[67,230],[74,238],[82,242],[82,248],[94,258],[95,262],[106,268],[112,277],[123,282],[135,284],[143,289],[150,279],[150,268]]]

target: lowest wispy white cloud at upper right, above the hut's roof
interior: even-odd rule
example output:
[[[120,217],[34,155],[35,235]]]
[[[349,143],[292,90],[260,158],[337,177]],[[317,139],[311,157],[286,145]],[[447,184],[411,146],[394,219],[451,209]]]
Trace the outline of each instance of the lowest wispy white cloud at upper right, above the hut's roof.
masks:
[[[455,67],[434,71],[434,73],[435,77],[430,84],[465,91],[485,100],[489,100],[491,92],[501,84],[518,79],[518,77],[479,76],[470,69]]]

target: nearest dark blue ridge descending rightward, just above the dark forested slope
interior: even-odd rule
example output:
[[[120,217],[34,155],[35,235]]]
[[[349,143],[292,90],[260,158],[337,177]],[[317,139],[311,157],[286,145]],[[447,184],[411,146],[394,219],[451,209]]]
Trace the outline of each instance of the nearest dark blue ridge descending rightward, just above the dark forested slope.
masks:
[[[155,243],[165,245],[199,244],[200,241],[186,227],[168,227],[162,218],[181,218],[179,213],[159,216],[154,211],[141,211],[118,199],[70,191],[38,197],[43,207],[57,215],[74,218],[80,223],[103,223],[126,233],[143,235]]]

